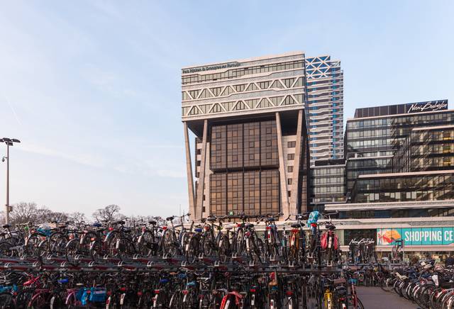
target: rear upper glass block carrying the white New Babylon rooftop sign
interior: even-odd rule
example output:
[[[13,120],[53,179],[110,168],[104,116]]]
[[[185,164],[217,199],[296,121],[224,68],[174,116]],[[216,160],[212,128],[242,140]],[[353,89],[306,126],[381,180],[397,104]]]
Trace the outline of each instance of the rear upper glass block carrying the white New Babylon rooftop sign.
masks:
[[[416,107],[415,107],[416,106]],[[433,106],[421,112],[418,106]],[[395,171],[393,158],[404,146],[411,130],[454,123],[448,101],[427,101],[375,108],[357,108],[345,129],[347,195],[362,174]]]

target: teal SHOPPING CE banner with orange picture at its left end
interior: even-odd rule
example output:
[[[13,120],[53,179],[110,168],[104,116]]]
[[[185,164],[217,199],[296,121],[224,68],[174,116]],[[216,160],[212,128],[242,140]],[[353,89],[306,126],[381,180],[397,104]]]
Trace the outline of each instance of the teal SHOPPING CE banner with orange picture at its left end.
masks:
[[[377,245],[394,245],[404,240],[404,245],[453,245],[454,227],[402,227],[378,228]]]

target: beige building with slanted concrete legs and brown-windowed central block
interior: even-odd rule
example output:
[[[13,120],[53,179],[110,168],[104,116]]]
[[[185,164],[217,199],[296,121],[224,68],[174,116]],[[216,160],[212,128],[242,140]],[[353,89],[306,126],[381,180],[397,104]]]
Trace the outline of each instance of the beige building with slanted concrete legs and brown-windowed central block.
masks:
[[[182,69],[189,211],[306,210],[309,150],[303,52]],[[195,139],[192,172],[189,130]],[[195,176],[195,184],[194,184]]]

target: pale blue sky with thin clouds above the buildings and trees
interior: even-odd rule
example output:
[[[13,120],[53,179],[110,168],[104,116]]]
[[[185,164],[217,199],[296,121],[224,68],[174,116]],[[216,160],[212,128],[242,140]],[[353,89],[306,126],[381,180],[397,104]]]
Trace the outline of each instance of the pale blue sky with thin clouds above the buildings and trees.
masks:
[[[187,210],[181,68],[304,51],[344,71],[344,114],[448,99],[454,1],[2,1],[10,203]],[[0,145],[0,154],[6,148]],[[6,198],[0,162],[0,205]]]

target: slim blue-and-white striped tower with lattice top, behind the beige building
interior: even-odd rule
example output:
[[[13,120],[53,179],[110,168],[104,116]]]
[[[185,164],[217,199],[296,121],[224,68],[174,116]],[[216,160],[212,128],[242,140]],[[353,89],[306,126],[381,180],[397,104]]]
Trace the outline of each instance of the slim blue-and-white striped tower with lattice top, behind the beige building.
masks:
[[[329,55],[306,58],[311,165],[343,157],[343,71]]]

